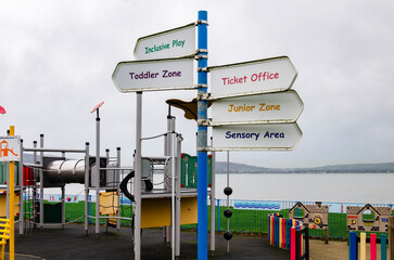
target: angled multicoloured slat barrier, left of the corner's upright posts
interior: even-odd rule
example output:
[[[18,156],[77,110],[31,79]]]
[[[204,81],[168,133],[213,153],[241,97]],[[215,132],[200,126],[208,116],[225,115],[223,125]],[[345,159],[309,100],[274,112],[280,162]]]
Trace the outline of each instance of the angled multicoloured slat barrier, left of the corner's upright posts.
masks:
[[[284,219],[279,213],[271,213],[268,219],[269,244],[290,250],[291,260],[308,260],[308,227],[305,227],[301,221]]]

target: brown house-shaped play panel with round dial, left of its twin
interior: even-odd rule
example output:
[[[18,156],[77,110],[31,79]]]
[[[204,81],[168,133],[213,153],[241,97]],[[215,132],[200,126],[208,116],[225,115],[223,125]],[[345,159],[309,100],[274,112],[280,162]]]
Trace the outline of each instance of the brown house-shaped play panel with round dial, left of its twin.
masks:
[[[315,203],[315,205],[304,205],[298,202],[289,210],[289,218],[303,222],[310,230],[325,230],[325,243],[328,244],[329,209],[329,205],[321,205],[319,202]]]

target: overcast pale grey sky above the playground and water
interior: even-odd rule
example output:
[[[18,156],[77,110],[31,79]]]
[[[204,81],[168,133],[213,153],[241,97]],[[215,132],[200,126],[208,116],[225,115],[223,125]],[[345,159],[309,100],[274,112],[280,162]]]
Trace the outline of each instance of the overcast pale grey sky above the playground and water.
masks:
[[[0,132],[10,125],[31,147],[94,151],[101,101],[102,151],[130,165],[136,94],[112,73],[134,60],[137,39],[208,12],[208,66],[287,55],[298,72],[303,138],[293,152],[232,152],[231,161],[263,167],[394,161],[394,2],[330,1],[5,1],[0,0]],[[143,94],[144,136],[166,131],[166,99],[195,90]],[[196,125],[173,109],[183,152],[195,154]],[[143,155],[162,155],[163,140]],[[92,152],[91,154],[94,154]],[[226,153],[219,153],[219,160]]]

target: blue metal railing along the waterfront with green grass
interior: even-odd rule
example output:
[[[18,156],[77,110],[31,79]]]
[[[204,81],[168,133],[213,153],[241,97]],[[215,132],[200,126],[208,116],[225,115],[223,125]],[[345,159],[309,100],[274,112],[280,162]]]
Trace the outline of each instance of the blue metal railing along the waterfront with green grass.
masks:
[[[45,199],[56,197],[58,195],[46,195]],[[75,220],[84,216],[84,195],[76,195],[71,202],[66,202],[66,219],[68,221]],[[89,196],[89,202],[94,208],[94,196]],[[293,207],[297,202],[292,200],[241,200],[230,199],[230,208],[232,210],[232,217],[230,218],[230,231],[234,233],[250,233],[250,234],[267,234],[268,232],[268,214],[279,212],[283,218],[289,217],[289,209]],[[315,202],[301,202],[304,205],[312,205]],[[329,211],[329,237],[333,239],[347,238],[347,216],[346,206],[363,206],[361,203],[326,203],[323,205],[330,205]],[[384,206],[393,209],[393,204],[371,204],[372,206]],[[209,206],[211,207],[211,206]],[[125,217],[122,220],[122,225],[131,225],[132,205],[127,198],[120,198],[120,217]],[[218,232],[227,231],[227,218],[224,216],[224,211],[227,209],[226,199],[216,199],[215,209],[215,230]],[[90,214],[90,213],[89,213]],[[91,216],[94,216],[92,210]],[[209,218],[209,216],[208,216]],[[78,222],[84,222],[82,219]],[[100,221],[104,223],[104,220]],[[94,220],[91,220],[94,223]],[[211,221],[208,220],[208,223]],[[196,224],[188,224],[181,226],[183,230],[196,230]],[[211,226],[208,226],[211,229]],[[309,229],[309,236],[323,237],[323,230]]]

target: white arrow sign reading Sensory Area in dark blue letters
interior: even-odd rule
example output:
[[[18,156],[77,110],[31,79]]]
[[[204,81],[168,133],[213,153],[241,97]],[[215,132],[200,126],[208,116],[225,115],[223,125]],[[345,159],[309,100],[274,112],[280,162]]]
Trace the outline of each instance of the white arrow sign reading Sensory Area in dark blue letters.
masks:
[[[213,128],[212,151],[293,150],[302,138],[293,123],[220,126]]]

